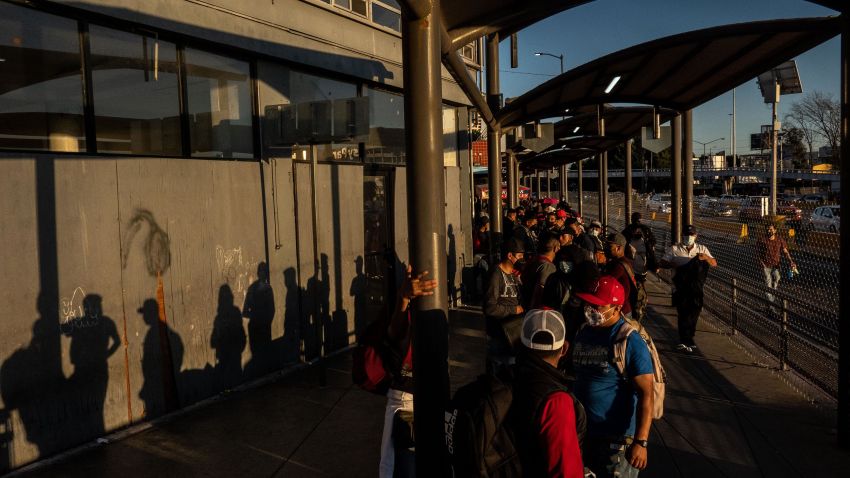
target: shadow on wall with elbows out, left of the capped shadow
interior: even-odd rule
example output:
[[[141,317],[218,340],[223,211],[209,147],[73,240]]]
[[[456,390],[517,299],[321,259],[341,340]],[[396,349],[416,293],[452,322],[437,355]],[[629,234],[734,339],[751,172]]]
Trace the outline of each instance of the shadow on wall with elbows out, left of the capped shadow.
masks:
[[[74,411],[78,427],[86,436],[106,432],[103,409],[109,384],[109,357],[121,347],[115,322],[103,315],[103,298],[83,298],[83,316],[63,322],[62,333],[71,338],[69,356],[74,373],[68,377],[64,399],[79,407]]]

